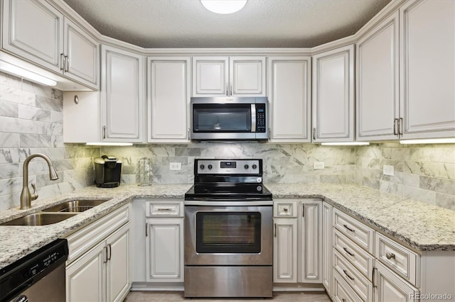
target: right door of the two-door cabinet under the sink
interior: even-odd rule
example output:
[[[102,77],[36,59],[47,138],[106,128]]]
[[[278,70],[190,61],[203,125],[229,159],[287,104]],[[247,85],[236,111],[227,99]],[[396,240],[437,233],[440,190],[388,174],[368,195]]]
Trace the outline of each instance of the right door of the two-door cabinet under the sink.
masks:
[[[129,223],[110,235],[107,245],[107,301],[122,301],[129,292]]]

